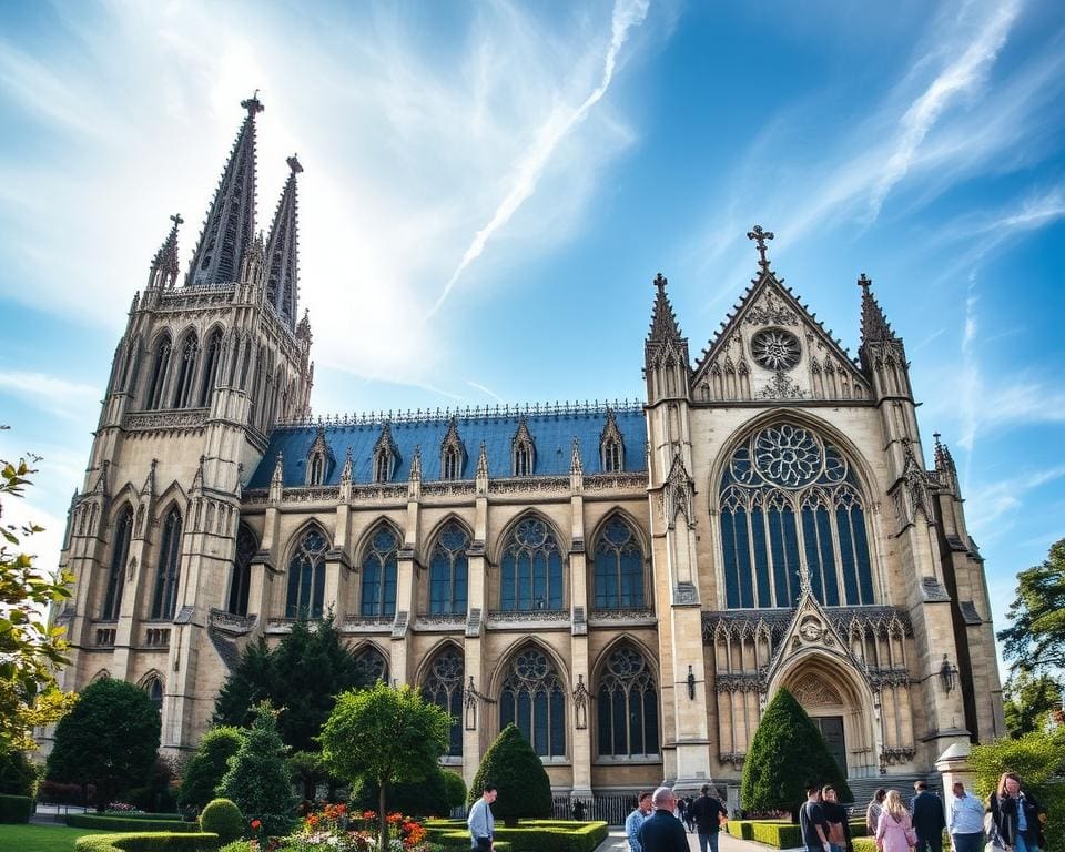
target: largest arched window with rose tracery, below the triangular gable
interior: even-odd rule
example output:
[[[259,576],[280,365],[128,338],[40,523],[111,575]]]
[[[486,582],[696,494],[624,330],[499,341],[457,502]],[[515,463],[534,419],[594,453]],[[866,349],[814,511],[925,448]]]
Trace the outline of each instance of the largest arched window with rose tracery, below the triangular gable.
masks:
[[[732,454],[719,494],[730,608],[794,606],[803,575],[826,606],[874,602],[858,480],[812,429],[757,432]]]

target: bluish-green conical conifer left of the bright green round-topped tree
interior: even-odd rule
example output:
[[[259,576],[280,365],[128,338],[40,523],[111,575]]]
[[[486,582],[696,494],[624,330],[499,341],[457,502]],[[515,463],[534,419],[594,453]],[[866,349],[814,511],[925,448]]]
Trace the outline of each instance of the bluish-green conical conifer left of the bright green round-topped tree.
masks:
[[[260,704],[256,709],[255,721],[233,755],[219,793],[232,800],[248,821],[261,820],[267,834],[288,832],[296,797],[288,780],[275,712],[268,706]]]

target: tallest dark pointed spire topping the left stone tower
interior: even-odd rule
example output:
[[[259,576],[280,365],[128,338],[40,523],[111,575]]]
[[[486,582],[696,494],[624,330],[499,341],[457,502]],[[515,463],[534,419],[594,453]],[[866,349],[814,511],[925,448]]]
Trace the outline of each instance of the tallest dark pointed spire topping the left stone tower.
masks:
[[[186,284],[236,281],[244,250],[255,233],[255,116],[263,111],[258,91],[241,106],[247,116],[236,135],[230,160],[200,235]]]

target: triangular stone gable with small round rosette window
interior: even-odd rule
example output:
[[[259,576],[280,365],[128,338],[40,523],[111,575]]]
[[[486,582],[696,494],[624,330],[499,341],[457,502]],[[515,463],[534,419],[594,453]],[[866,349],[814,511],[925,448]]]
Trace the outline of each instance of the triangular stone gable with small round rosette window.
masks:
[[[703,352],[691,392],[697,403],[870,397],[839,341],[771,270],[754,280]]]

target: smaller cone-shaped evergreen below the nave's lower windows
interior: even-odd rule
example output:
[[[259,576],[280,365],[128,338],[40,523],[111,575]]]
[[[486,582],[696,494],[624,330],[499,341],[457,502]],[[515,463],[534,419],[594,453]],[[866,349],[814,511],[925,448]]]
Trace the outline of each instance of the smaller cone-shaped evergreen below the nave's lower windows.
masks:
[[[514,723],[504,728],[480,760],[467,802],[480,798],[486,783],[499,789],[491,812],[507,825],[523,816],[551,815],[551,781],[529,741]]]

